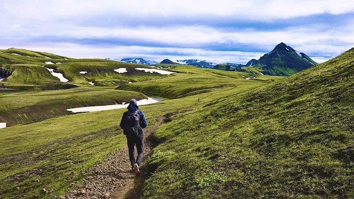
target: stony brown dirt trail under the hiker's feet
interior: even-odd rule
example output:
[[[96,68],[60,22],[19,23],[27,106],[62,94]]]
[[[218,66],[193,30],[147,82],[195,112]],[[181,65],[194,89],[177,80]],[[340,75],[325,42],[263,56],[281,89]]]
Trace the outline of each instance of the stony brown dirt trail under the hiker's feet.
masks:
[[[151,154],[150,134],[164,123],[164,117],[157,118],[156,125],[144,132],[144,160],[141,175],[136,177],[130,171],[130,161],[126,142],[124,147],[89,169],[86,182],[75,190],[67,192],[62,199],[140,199],[145,179],[150,173],[145,168],[145,160]],[[135,150],[136,151],[136,150]],[[73,185],[75,186],[75,185]]]

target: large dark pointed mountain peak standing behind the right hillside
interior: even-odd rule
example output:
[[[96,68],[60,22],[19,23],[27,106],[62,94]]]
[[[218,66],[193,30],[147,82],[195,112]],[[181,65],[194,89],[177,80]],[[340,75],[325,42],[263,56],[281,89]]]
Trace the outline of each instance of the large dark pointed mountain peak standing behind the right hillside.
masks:
[[[311,66],[318,65],[306,54],[295,51],[283,42],[262,56],[256,64],[253,63],[253,60],[247,64],[250,64],[250,66],[264,74],[280,76],[289,76]]]

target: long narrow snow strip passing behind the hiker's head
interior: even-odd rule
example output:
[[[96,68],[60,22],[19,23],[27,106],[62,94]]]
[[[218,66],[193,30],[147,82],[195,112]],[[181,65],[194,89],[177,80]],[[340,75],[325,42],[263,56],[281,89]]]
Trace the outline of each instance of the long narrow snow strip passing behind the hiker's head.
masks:
[[[151,104],[151,103],[156,103],[161,101],[161,99],[156,99],[156,98],[148,98],[148,99],[142,99],[137,101],[138,106],[140,105],[145,105],[145,104]],[[87,106],[87,107],[80,107],[80,108],[70,108],[66,109],[67,111],[71,111],[73,113],[80,113],[80,112],[93,112],[93,111],[102,111],[102,110],[112,110],[112,109],[119,109],[119,108],[126,108],[128,107],[128,104],[114,104],[114,105],[106,105],[106,106]]]

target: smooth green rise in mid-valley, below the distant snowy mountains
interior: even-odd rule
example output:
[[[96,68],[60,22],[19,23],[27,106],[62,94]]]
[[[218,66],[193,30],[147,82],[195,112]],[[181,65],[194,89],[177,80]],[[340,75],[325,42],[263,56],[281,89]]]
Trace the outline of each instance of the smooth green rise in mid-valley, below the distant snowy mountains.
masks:
[[[172,65],[170,70],[177,73],[169,78],[126,84],[118,87],[118,89],[138,91],[148,96],[176,99],[200,93],[207,93],[213,89],[222,87],[237,87],[244,91],[252,87],[267,84],[265,77],[262,77],[262,79],[259,79],[260,81],[257,81],[258,76],[255,75],[257,78],[248,80],[245,79],[245,77],[253,76],[242,72],[176,65]],[[269,80],[277,78],[279,77],[269,77]]]

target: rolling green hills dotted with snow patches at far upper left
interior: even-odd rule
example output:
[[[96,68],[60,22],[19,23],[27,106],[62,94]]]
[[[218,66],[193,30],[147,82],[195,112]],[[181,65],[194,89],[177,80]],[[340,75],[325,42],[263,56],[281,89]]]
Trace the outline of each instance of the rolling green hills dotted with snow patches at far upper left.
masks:
[[[69,79],[69,84],[95,86],[117,86],[128,82],[145,81],[167,77],[159,73],[150,73],[135,68],[152,68],[139,64],[121,63],[104,59],[73,59],[51,53],[36,52],[25,49],[10,48],[0,52],[0,69],[10,69],[12,75],[2,83],[55,86],[59,79],[49,73],[43,66],[62,73]],[[118,73],[118,68],[127,68],[127,72]],[[86,71],[82,74],[80,72]],[[10,88],[10,87],[9,87]],[[41,87],[37,87],[41,88]],[[25,89],[29,90],[29,89]]]

